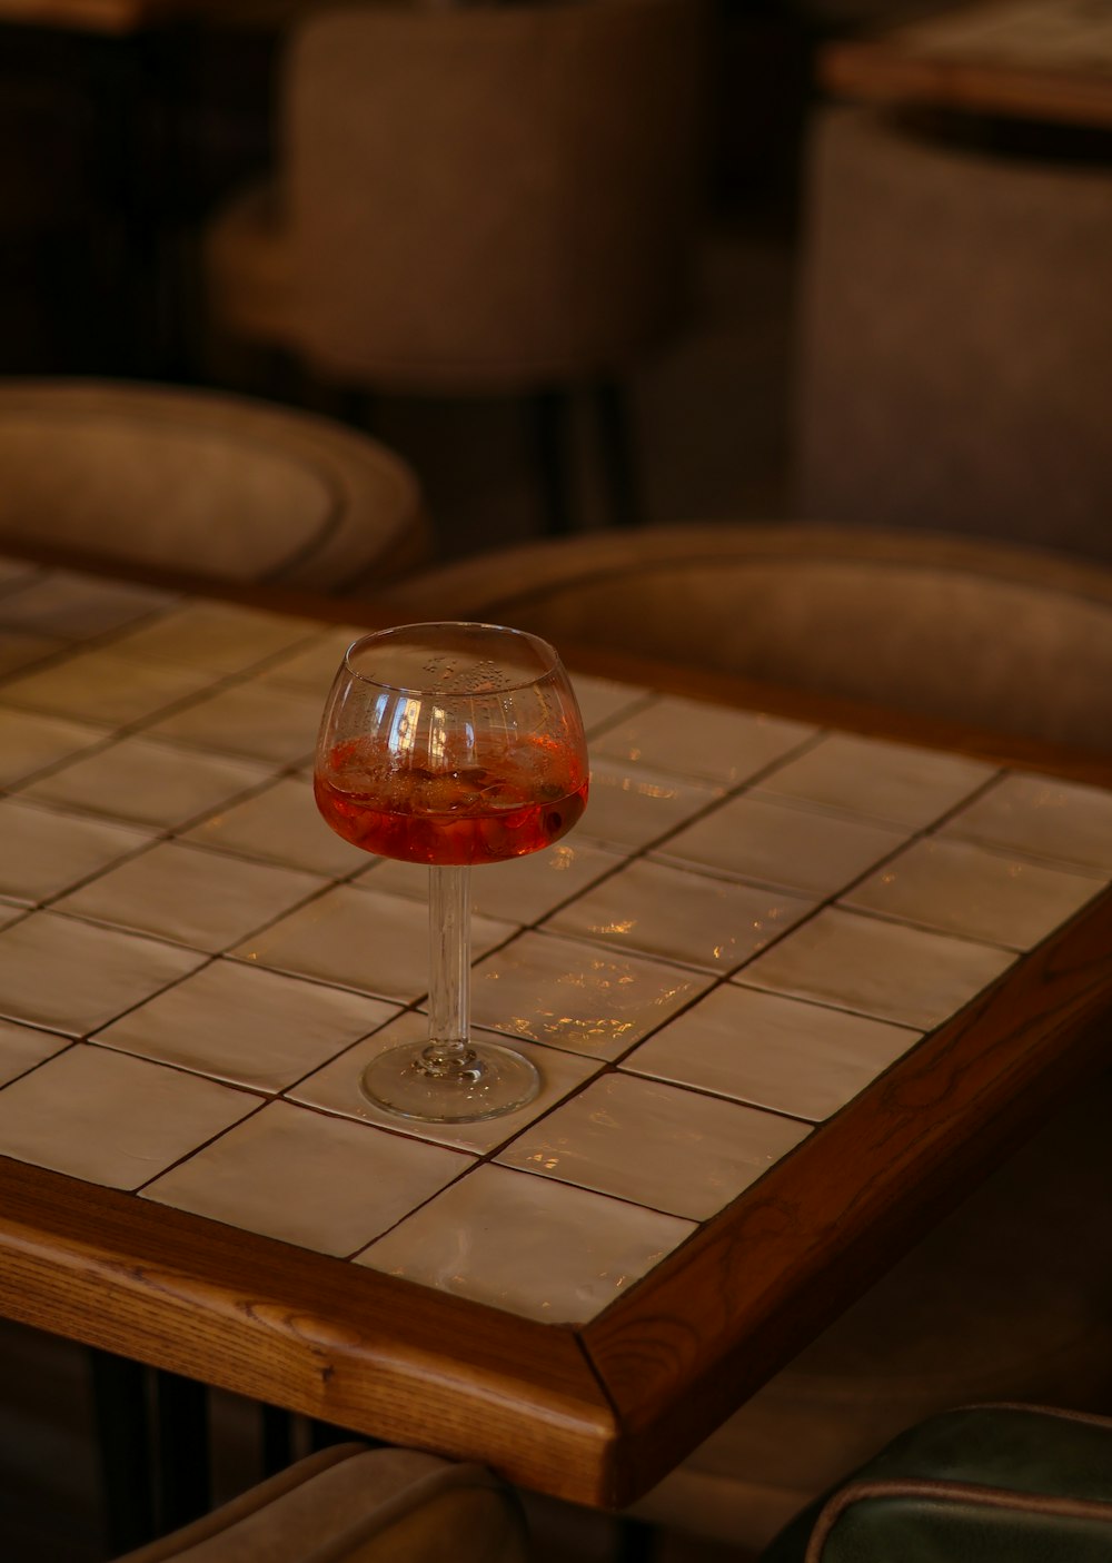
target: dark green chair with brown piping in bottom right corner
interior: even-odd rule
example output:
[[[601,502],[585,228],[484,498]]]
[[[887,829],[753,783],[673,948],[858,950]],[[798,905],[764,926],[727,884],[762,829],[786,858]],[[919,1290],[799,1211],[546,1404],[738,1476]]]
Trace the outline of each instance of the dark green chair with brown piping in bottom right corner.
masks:
[[[901,1433],[761,1563],[1101,1563],[1112,1554],[1112,1421],[973,1405]]]

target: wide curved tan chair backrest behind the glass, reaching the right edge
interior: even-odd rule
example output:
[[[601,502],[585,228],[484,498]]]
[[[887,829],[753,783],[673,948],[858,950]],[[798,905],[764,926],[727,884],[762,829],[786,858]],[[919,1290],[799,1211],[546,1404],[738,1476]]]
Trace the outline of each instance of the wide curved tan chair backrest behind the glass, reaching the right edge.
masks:
[[[478,555],[395,617],[498,619],[993,731],[1112,750],[1112,570],[940,535],[712,524]]]

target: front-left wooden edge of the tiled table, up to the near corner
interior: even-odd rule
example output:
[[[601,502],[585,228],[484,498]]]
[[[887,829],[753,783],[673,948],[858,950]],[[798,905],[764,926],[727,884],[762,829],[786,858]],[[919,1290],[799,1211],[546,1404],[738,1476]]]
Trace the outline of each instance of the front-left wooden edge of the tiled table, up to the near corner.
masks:
[[[617,1419],[573,1329],[5,1157],[0,1311],[525,1486],[609,1482]]]

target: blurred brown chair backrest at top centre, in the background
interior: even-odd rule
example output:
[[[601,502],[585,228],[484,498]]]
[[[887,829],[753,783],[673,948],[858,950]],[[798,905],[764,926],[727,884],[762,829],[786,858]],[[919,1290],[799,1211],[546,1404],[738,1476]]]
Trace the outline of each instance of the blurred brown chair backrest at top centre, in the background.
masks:
[[[675,324],[703,0],[323,6],[281,91],[300,344],[394,389],[528,389]]]

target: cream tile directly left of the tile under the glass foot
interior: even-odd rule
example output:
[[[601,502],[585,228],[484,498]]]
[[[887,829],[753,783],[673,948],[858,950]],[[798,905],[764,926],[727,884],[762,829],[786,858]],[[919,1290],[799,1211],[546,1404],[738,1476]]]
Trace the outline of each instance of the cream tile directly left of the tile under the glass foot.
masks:
[[[381,999],[219,960],[97,1041],[230,1085],[283,1091],[397,1013]]]

